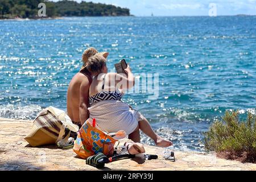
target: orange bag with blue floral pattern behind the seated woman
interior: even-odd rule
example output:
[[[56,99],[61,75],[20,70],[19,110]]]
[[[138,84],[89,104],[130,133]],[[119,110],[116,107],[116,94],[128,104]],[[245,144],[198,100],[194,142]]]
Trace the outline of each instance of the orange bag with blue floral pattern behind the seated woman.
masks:
[[[118,140],[98,129],[95,120],[93,120],[93,125],[91,123],[92,119],[88,119],[82,125],[75,140],[73,151],[82,159],[87,159],[89,156],[98,154],[98,152],[111,157],[114,152],[114,144]]]

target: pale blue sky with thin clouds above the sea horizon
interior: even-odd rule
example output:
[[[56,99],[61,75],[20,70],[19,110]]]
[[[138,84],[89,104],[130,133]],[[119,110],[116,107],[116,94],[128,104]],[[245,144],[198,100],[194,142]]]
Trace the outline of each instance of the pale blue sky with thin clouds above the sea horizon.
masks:
[[[53,0],[58,1],[58,0]],[[73,0],[81,2],[81,0]],[[256,15],[256,0],[85,0],[127,7],[135,16]],[[212,6],[210,3],[214,3]],[[209,6],[210,5],[210,6]],[[214,14],[215,14],[214,13]]]

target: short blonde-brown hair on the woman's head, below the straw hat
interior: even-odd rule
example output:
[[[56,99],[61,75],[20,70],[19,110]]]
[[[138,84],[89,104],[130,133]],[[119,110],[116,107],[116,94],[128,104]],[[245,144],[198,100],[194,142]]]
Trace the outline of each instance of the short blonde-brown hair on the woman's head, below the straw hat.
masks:
[[[89,57],[86,68],[93,74],[101,73],[101,70],[106,66],[106,58],[102,55],[94,55]]]

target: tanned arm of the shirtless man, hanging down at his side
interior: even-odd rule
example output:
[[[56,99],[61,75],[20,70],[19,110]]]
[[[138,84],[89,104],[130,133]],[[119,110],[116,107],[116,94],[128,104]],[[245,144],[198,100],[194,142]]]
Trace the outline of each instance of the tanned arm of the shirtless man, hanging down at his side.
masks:
[[[85,121],[89,118],[89,111],[88,111],[88,100],[89,100],[89,88],[90,84],[89,81],[86,79],[82,81],[80,86],[80,104],[79,104],[79,117],[80,122],[84,125]]]

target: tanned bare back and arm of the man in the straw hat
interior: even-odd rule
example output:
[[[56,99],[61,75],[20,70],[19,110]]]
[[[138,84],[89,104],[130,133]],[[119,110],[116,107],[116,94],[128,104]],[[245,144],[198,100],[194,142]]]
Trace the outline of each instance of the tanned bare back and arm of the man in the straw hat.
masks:
[[[71,80],[67,93],[68,116],[73,122],[83,124],[88,119],[88,94],[92,77],[79,72]]]

